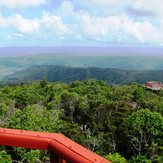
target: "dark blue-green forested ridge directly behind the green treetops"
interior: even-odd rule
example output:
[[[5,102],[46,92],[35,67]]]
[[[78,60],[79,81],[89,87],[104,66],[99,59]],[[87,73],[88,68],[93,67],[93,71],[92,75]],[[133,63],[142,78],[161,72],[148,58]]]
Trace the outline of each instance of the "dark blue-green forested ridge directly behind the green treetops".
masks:
[[[163,81],[163,70],[120,70],[111,68],[74,68],[68,66],[35,66],[18,71],[6,77],[2,83],[21,83],[47,79],[50,82],[72,82],[74,80],[85,80],[96,78],[104,80],[109,84],[129,84],[146,81]]]

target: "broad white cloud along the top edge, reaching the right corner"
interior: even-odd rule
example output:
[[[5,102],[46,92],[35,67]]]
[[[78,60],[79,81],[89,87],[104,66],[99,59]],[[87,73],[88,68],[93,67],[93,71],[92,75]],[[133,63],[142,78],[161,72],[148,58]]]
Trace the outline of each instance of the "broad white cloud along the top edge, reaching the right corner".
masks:
[[[89,13],[105,17],[133,8],[163,18],[163,0],[77,0],[77,3]]]

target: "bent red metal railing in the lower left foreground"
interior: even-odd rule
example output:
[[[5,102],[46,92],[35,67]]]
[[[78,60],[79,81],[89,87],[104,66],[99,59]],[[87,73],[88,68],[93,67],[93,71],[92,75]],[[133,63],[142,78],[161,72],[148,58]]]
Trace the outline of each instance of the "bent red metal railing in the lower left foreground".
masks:
[[[62,134],[0,129],[0,145],[49,150],[51,163],[110,163]]]

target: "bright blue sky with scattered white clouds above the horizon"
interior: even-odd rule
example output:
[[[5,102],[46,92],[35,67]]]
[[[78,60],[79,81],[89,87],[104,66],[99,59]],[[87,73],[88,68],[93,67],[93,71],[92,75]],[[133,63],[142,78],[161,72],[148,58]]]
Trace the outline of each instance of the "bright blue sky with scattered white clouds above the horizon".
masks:
[[[3,46],[162,46],[162,0],[0,0]]]

